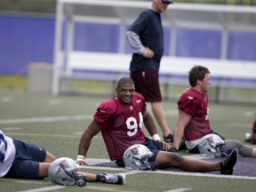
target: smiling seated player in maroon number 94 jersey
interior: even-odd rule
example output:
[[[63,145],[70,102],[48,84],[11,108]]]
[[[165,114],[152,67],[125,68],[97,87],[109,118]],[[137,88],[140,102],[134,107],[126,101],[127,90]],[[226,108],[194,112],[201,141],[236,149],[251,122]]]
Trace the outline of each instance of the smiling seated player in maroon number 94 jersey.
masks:
[[[145,125],[152,139],[146,137],[142,130]],[[152,161],[157,162],[159,168],[175,167],[188,172],[214,172],[232,174],[236,164],[237,149],[220,163],[211,163],[203,160],[191,160],[172,153],[171,147],[160,140],[156,132],[152,116],[148,113],[144,97],[135,92],[130,77],[121,78],[116,86],[116,97],[102,102],[93,116],[92,123],[84,131],[78,148],[77,164],[85,165],[86,153],[92,138],[101,132],[108,156],[124,167],[123,155],[126,148],[133,144],[142,144],[154,154]]]

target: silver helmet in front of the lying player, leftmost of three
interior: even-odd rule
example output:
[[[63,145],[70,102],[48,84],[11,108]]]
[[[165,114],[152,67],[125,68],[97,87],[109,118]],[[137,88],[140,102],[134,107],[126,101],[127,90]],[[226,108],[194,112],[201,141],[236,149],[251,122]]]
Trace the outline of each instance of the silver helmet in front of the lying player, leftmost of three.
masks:
[[[84,187],[86,176],[77,175],[79,169],[79,165],[73,159],[60,157],[50,164],[48,177],[53,185]]]

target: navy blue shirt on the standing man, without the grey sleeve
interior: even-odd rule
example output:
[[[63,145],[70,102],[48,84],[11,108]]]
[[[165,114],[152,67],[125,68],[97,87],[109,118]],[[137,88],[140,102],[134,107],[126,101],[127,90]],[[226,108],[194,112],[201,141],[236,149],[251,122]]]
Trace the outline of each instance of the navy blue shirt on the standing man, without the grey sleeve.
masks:
[[[130,70],[140,71],[151,68],[158,71],[164,53],[164,32],[160,13],[151,9],[141,12],[128,30],[140,36],[141,43],[155,53],[154,57],[149,59],[133,52]]]

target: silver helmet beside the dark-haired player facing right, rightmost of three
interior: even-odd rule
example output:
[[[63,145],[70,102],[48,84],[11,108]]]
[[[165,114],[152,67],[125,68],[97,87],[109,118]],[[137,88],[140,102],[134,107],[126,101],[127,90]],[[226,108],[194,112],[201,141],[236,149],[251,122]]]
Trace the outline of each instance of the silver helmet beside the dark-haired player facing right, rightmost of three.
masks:
[[[225,141],[217,134],[207,134],[198,143],[198,149],[200,154],[206,156],[226,156],[223,153],[225,147]]]

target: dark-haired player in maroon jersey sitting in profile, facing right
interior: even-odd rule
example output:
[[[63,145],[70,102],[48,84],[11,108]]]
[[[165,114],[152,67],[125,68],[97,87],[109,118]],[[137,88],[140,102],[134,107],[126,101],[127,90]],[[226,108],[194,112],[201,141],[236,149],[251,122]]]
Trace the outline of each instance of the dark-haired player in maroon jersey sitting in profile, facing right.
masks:
[[[198,144],[201,139],[207,134],[215,133],[209,121],[207,92],[211,84],[210,70],[195,66],[190,69],[188,80],[191,88],[183,92],[178,100],[179,119],[172,150],[177,151],[184,134],[188,151],[199,154]],[[256,148],[246,146],[238,140],[225,140],[225,150],[230,151],[233,148],[237,148],[242,156],[256,157]]]

